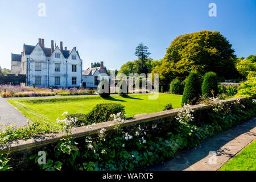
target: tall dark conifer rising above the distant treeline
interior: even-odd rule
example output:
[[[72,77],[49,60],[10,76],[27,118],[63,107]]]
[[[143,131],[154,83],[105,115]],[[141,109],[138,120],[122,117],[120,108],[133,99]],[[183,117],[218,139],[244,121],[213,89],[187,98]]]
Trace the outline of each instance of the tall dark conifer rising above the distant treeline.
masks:
[[[146,60],[148,58],[148,55],[150,55],[150,52],[148,52],[148,47],[144,46],[143,43],[140,43],[135,50],[135,56],[138,57],[138,60],[135,61],[135,65],[134,65],[134,69],[136,73],[138,74],[148,73],[148,68],[146,65]]]

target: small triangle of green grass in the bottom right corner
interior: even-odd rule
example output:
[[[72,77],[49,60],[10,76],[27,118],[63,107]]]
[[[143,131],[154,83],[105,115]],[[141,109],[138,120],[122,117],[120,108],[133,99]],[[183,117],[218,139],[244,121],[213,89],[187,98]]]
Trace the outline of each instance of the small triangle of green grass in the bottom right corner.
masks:
[[[220,171],[256,171],[256,140],[224,164]]]

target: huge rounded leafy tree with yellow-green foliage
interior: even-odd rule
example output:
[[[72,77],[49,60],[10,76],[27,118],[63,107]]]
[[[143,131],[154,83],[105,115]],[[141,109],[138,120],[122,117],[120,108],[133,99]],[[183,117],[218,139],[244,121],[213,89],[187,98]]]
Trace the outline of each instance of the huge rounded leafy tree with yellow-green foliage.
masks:
[[[200,78],[209,71],[218,77],[232,78],[238,74],[236,59],[232,45],[220,32],[204,30],[175,38],[162,65],[152,73],[159,73],[160,85],[166,87],[174,78],[185,80],[192,70]]]

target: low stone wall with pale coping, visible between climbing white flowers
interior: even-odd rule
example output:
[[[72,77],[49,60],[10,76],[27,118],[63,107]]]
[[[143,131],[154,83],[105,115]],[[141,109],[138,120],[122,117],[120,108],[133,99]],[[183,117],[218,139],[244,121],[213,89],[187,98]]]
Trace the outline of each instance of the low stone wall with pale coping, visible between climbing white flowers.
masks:
[[[238,99],[240,99],[241,102],[247,101],[247,98],[231,98],[222,102],[235,102]],[[192,106],[192,109],[195,110],[195,125],[200,122],[209,122],[208,111],[211,109],[210,105],[195,105]],[[158,113],[138,114],[134,115],[132,118],[127,118],[126,122],[121,125],[123,130],[127,131],[131,130],[134,126],[141,125],[141,128],[147,133],[160,136],[172,131],[172,124],[174,123],[173,121],[175,121],[175,116],[178,114],[178,111],[178,109],[172,109],[160,111]],[[114,131],[113,121],[97,123],[94,126],[90,126],[92,129],[88,129],[87,126],[83,126],[72,130],[71,135],[77,143],[83,144],[85,137],[88,135],[95,137],[102,128],[105,128],[109,134]],[[47,151],[49,156],[54,155],[54,148],[57,142],[62,138],[62,135],[63,133],[60,132],[56,134],[36,136],[28,140],[16,140],[15,142],[6,144],[4,146],[4,150],[7,151],[10,149],[10,157],[12,158],[10,164],[15,165],[13,165],[13,167],[15,167],[14,169],[32,169],[34,162],[28,158],[33,154],[38,154],[38,151]]]

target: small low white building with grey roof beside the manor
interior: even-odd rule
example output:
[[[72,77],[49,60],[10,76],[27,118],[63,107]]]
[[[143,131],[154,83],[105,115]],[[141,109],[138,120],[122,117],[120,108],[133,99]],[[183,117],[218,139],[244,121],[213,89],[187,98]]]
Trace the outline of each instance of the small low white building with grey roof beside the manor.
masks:
[[[106,79],[109,81],[108,72],[106,67],[104,67],[103,61],[101,61],[100,67],[94,67],[91,64],[91,67],[82,72],[82,86],[88,88],[97,88],[100,81]],[[110,82],[110,81],[109,81]]]

